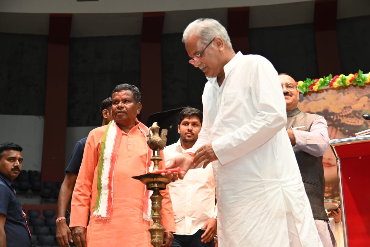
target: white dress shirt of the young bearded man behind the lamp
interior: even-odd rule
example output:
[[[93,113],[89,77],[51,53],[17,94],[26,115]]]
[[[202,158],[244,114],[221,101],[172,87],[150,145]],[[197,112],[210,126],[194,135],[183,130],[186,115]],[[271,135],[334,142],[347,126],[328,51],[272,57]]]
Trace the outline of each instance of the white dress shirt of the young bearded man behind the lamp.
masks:
[[[180,139],[163,150],[166,163],[184,154]],[[212,216],[217,216],[216,191],[212,165],[205,169],[190,170],[183,180],[168,184],[172,207],[175,213],[176,233],[195,234]]]

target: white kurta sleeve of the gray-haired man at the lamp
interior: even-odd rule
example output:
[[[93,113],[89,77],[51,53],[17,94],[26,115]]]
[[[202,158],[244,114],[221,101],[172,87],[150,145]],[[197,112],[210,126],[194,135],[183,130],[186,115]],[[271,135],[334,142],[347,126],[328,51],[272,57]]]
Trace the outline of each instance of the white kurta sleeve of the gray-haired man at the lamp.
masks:
[[[240,101],[238,107],[255,108],[256,114],[245,125],[212,142],[222,165],[265,144],[286,124],[286,103],[277,72],[264,57],[255,56],[254,60],[249,78],[240,79],[250,99],[248,102],[243,102],[247,101],[246,97],[235,100]]]

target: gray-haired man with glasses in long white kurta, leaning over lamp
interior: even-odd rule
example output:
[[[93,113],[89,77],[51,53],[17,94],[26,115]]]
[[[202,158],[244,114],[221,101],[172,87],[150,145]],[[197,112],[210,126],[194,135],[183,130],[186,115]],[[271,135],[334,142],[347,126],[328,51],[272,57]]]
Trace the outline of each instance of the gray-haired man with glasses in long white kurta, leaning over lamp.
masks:
[[[193,162],[212,161],[219,247],[322,246],[285,131],[277,72],[262,56],[235,54],[219,26],[198,19],[184,31],[189,62],[208,82],[202,130],[186,150],[195,158],[178,156],[169,167],[180,166],[181,178]]]

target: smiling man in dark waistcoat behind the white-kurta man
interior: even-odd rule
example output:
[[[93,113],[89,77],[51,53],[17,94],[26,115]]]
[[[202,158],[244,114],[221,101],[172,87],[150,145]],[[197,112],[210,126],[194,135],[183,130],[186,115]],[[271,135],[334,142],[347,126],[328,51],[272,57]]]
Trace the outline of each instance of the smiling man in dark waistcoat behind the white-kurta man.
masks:
[[[317,231],[324,247],[335,247],[336,241],[324,208],[325,179],[322,159],[329,145],[327,123],[322,116],[299,111],[299,91],[291,76],[279,74],[279,79],[286,102],[286,131],[293,146]]]

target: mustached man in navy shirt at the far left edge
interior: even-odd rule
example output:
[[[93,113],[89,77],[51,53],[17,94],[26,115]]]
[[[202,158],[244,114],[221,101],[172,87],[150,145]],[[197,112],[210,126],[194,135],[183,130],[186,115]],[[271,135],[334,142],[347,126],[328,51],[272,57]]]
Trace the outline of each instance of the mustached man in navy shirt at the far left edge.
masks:
[[[22,168],[21,146],[0,144],[0,246],[31,247],[31,234],[11,181]]]

